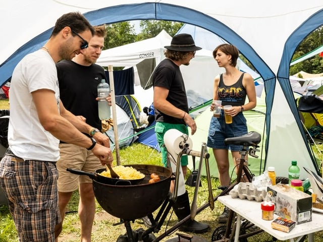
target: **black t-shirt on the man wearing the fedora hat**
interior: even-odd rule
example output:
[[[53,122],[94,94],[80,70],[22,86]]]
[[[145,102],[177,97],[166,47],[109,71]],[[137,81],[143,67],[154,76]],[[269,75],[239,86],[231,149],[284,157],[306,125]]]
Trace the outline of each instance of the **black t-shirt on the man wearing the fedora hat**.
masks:
[[[185,85],[180,67],[170,59],[162,60],[152,75],[153,87],[162,87],[169,90],[166,98],[175,107],[188,113],[188,102]],[[155,109],[157,122],[185,124],[183,119],[174,118]]]

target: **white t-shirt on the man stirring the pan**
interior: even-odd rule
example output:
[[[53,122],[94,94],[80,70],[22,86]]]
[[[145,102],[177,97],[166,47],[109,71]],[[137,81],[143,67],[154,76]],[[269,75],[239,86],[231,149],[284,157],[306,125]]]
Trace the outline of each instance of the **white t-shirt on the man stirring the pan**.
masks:
[[[11,150],[25,160],[56,162],[60,158],[59,140],[40,124],[31,96],[39,89],[55,92],[59,109],[56,65],[44,50],[28,54],[14,69],[10,87],[8,142]]]

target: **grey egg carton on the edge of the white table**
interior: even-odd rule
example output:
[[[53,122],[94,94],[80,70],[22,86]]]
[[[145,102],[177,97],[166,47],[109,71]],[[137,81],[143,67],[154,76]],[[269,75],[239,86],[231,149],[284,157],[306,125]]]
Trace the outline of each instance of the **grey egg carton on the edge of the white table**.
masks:
[[[248,199],[262,202],[267,195],[267,189],[258,190],[250,182],[240,182],[230,192],[232,198]]]

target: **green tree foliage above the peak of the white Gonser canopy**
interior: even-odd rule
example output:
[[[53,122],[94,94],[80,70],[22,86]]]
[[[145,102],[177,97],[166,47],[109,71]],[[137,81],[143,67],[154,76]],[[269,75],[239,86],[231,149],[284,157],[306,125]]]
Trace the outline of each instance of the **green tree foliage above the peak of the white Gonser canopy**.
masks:
[[[183,23],[164,20],[142,20],[140,21],[142,31],[137,35],[136,41],[153,38],[163,29],[170,36],[174,36],[183,25]]]

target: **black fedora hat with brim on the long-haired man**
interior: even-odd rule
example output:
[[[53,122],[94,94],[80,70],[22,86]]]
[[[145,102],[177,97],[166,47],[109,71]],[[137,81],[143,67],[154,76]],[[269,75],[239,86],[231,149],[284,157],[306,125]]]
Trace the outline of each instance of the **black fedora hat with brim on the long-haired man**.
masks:
[[[195,45],[192,36],[189,34],[175,35],[172,39],[171,45],[164,46],[164,48],[175,51],[194,51],[202,49]]]

